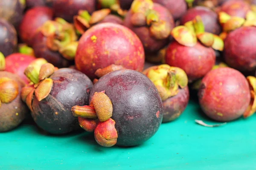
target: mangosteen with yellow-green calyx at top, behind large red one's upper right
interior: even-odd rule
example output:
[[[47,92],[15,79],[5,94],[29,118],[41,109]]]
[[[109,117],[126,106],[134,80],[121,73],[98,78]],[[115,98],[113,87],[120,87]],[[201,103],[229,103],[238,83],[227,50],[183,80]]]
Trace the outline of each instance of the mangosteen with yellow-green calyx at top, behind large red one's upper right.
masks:
[[[152,53],[169,43],[169,35],[175,24],[164,6],[151,0],[134,0],[125,16],[124,26],[137,34],[146,53]]]

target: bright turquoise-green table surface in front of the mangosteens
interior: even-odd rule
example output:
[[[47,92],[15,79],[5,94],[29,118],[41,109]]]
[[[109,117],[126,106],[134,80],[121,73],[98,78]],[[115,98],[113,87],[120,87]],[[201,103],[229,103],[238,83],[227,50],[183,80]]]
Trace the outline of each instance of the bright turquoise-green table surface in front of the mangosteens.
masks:
[[[3,170],[256,170],[256,115],[221,127],[207,119],[195,101],[174,122],[137,147],[101,147],[91,133],[52,136],[23,123],[0,133]]]

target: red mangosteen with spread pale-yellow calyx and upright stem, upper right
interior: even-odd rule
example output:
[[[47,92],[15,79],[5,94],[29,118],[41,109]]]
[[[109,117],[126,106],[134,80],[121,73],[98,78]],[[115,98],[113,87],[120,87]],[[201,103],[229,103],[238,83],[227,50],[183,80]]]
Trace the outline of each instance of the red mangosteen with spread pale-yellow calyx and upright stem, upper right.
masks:
[[[175,41],[166,50],[165,63],[183,69],[192,82],[212,69],[216,59],[213,49],[222,51],[224,42],[217,35],[204,32],[199,16],[185,25],[172,30]]]

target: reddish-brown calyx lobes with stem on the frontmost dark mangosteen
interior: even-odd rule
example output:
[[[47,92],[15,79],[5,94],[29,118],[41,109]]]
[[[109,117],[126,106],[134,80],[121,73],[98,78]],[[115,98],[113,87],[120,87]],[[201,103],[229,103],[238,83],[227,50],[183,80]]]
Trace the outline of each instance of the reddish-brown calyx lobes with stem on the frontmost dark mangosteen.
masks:
[[[116,144],[117,131],[115,121],[111,119],[113,105],[105,91],[95,93],[88,106],[74,106],[71,109],[74,116],[79,117],[80,126],[93,132],[98,144],[111,147]]]

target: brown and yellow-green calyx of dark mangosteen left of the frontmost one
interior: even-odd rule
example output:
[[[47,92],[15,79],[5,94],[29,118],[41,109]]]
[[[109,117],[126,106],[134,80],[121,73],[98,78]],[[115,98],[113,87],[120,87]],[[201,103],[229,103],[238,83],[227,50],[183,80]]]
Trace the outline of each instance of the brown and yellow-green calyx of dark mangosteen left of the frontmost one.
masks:
[[[39,69],[38,69],[39,68]],[[38,65],[29,65],[24,74],[28,77],[32,85],[25,86],[21,90],[21,98],[32,111],[32,100],[35,97],[38,101],[45,99],[51,92],[53,80],[49,77],[57,70],[52,64],[44,63],[41,67]]]

